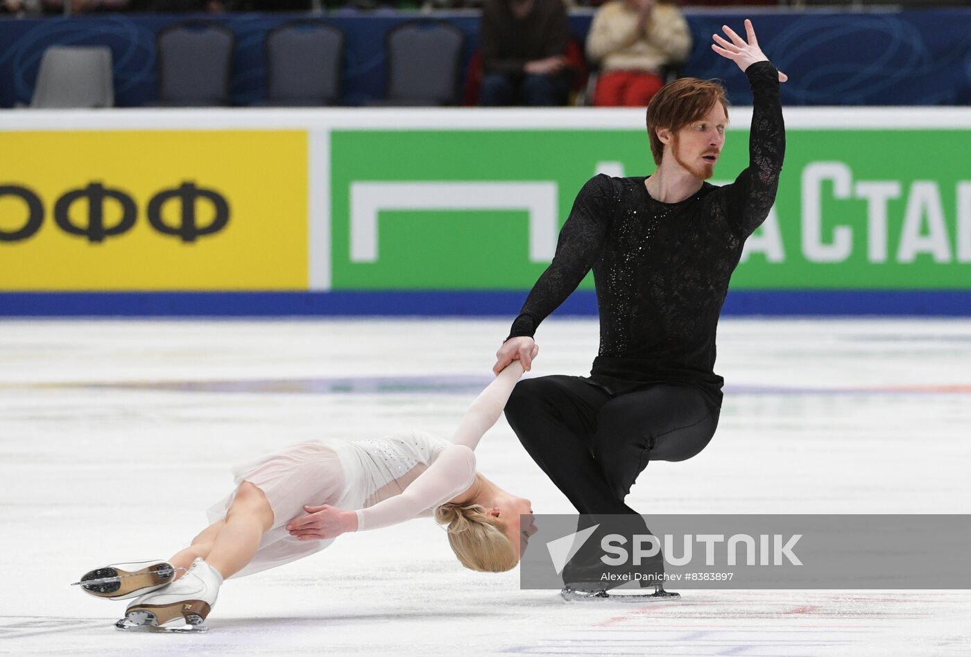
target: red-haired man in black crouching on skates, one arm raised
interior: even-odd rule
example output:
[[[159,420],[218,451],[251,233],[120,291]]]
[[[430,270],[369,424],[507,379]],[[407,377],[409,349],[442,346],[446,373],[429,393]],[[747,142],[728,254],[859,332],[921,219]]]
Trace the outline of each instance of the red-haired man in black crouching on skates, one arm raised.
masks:
[[[537,326],[593,269],[600,349],[590,377],[521,380],[506,406],[526,451],[582,514],[636,514],[624,498],[648,463],[694,456],[718,425],[721,305],[745,240],[775,201],[786,147],[787,78],[759,49],[752,21],[745,27],[748,41],[723,26],[730,41],[714,35],[712,49],[752,85],[748,168],[723,187],[705,182],[728,122],[718,82],[663,87],[647,113],[654,173],[586,182],[496,353],[496,373],[513,360],[529,370]],[[564,571],[564,597],[607,596],[609,585],[571,576]]]

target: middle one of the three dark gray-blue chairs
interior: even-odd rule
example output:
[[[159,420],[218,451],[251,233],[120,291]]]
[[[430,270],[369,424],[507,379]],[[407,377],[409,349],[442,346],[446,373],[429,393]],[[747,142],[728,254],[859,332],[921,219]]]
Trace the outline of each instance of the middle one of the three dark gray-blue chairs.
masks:
[[[341,96],[344,32],[318,21],[286,23],[266,37],[267,105],[333,105]]]

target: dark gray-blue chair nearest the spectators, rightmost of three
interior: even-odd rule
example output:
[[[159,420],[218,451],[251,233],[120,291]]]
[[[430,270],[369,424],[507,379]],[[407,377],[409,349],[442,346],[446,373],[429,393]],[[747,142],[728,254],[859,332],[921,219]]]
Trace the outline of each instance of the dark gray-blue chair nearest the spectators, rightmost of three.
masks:
[[[446,22],[412,22],[387,34],[387,98],[379,105],[455,105],[465,35]]]

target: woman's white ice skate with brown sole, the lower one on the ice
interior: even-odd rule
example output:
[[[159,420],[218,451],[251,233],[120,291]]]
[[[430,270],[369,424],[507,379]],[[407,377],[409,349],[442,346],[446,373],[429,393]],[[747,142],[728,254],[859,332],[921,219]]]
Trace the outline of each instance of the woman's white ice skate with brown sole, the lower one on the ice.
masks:
[[[150,632],[205,632],[203,625],[216,605],[222,575],[198,558],[185,575],[162,591],[150,593],[128,606],[115,623],[119,630]]]

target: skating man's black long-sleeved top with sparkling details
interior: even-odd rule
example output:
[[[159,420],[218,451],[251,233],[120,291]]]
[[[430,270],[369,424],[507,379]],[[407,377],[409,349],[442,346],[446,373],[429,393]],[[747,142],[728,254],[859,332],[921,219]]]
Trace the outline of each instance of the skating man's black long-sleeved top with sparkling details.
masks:
[[[696,386],[720,406],[721,305],[745,240],[775,202],[786,149],[776,68],[756,62],[746,75],[753,90],[749,166],[731,184],[705,182],[670,204],[648,194],[644,177],[587,181],[510,337],[532,336],[592,269],[600,350],[590,378],[615,393],[658,382]]]

